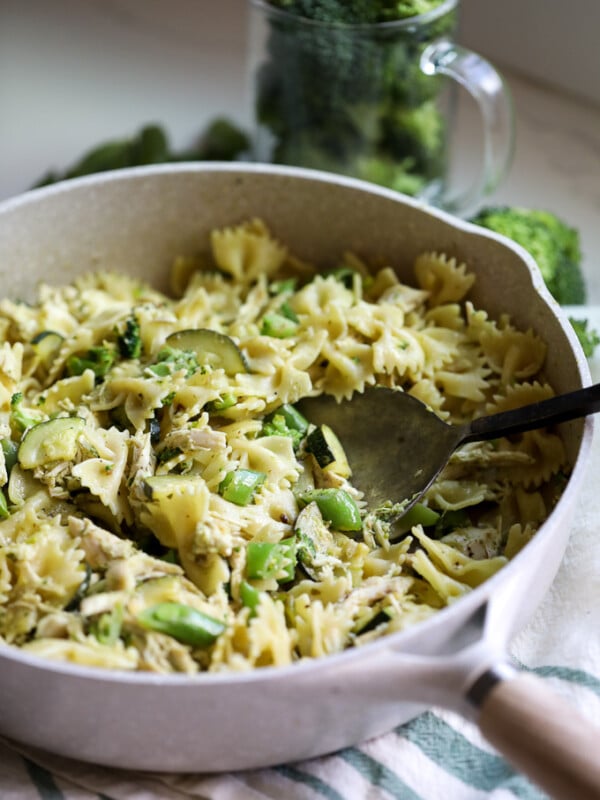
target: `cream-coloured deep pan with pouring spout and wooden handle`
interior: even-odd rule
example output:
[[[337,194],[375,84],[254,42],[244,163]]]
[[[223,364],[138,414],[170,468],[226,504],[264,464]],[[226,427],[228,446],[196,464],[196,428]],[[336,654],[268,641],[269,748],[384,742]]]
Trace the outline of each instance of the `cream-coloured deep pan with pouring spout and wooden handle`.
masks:
[[[0,206],[3,293],[32,295],[106,267],[161,285],[174,254],[208,232],[261,217],[300,256],[352,249],[406,272],[436,249],[477,274],[475,302],[510,312],[548,342],[557,391],[589,382],[570,325],[524,251],[395,193],[323,173],[261,165],[177,165],[105,173]],[[287,668],[196,677],[126,674],[42,661],[0,646],[0,734],[105,765],[219,771],[305,759],[443,705],[557,797],[600,796],[597,734],[515,677],[506,645],[550,585],[577,513],[590,420],[563,426],[573,471],[534,540],[491,580],[430,620],[340,655]]]

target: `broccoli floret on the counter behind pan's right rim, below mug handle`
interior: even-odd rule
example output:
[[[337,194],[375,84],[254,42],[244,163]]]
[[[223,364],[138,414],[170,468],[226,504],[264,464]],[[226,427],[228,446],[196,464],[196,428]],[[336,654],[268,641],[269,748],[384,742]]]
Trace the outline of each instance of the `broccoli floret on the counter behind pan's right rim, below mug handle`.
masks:
[[[561,305],[585,303],[579,233],[556,214],[499,206],[482,209],[471,221],[524,247],[536,260],[546,286]]]

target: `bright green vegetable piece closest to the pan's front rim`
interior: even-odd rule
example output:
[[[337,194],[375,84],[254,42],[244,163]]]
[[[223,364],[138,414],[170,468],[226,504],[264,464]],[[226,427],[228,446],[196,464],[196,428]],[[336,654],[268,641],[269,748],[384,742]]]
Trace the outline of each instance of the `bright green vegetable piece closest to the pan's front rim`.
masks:
[[[225,630],[218,619],[183,603],[157,603],[144,609],[137,619],[145,628],[192,647],[208,647]]]

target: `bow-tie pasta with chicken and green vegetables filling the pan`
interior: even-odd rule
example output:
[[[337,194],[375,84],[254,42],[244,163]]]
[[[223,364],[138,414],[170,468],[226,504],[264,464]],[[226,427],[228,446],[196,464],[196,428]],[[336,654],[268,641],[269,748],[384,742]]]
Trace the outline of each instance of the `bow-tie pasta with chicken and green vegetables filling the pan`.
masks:
[[[3,299],[0,642],[120,670],[280,666],[501,569],[562,490],[556,433],[464,446],[394,519],[297,408],[379,384],[459,423],[553,394],[543,341],[475,308],[466,265],[426,252],[414,278],[354,253],[317,268],[250,220],[175,257],[168,294],[99,271]]]

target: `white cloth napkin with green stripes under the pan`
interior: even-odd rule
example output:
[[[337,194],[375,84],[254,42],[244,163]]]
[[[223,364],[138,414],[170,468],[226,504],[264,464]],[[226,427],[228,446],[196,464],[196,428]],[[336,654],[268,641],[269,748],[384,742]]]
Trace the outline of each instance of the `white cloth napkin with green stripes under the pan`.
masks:
[[[592,362],[600,375],[600,362]],[[600,426],[597,426],[600,428]],[[600,429],[560,571],[511,645],[522,668],[600,723]],[[1,713],[1,709],[0,709]],[[598,743],[600,753],[600,741]],[[2,800],[541,800],[477,728],[433,709],[385,736],[311,761],[225,775],[124,772],[0,740]]]

